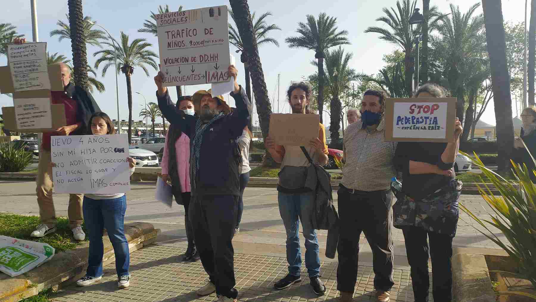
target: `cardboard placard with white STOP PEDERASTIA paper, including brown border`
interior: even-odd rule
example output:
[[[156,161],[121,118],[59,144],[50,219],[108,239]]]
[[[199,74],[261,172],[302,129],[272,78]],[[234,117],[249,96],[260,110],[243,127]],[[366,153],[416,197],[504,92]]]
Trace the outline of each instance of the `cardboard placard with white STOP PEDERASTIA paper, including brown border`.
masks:
[[[454,140],[456,98],[385,99],[385,141]]]

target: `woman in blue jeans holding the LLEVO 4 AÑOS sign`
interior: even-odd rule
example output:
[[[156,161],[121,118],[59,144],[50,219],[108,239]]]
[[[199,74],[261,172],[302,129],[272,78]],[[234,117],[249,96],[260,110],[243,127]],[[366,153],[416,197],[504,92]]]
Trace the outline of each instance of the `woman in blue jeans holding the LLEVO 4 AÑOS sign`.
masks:
[[[91,116],[90,121],[86,134],[115,134],[114,124],[106,113],[96,112]],[[136,167],[136,159],[127,157],[126,162],[130,175],[132,175]],[[54,166],[54,163],[52,165]],[[83,210],[90,237],[90,251],[86,275],[76,282],[77,285],[90,285],[102,278],[102,257],[104,254],[102,234],[103,229],[106,229],[111,245],[114,247],[117,287],[128,287],[130,284],[130,252],[129,242],[126,240],[124,231],[126,195],[124,193],[86,194]]]

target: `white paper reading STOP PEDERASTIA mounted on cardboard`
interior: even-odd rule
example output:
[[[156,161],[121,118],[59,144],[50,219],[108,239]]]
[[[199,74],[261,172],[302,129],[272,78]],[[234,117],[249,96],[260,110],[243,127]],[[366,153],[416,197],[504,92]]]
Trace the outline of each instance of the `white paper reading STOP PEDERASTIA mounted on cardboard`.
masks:
[[[446,102],[395,102],[393,137],[445,138]]]

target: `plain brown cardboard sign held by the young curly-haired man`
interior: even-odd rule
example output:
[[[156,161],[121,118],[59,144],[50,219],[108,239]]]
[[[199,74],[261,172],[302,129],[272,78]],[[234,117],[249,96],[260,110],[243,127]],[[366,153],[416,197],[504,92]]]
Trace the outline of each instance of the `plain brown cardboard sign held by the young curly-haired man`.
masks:
[[[278,145],[308,146],[318,137],[320,116],[318,114],[270,114],[269,136]]]

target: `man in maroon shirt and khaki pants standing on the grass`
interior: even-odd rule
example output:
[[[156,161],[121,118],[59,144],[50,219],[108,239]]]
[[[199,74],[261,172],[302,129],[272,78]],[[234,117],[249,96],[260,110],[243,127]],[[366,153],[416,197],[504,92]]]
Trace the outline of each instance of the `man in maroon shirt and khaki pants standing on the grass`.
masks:
[[[15,38],[13,43],[23,44],[25,38]],[[37,203],[39,204],[39,217],[41,223],[30,235],[31,237],[44,237],[56,232],[56,209],[52,196],[52,168],[50,166],[50,137],[56,135],[84,135],[90,117],[95,112],[100,112],[90,92],[80,86],[71,83],[71,69],[64,63],[59,63],[63,82],[63,91],[51,91],[52,104],[65,106],[66,125],[55,131],[43,132],[41,146],[39,148],[38,173],[35,180]],[[82,230],[84,217],[82,216],[82,198],[84,194],[69,194],[69,227],[75,240],[84,240],[86,234]]]

